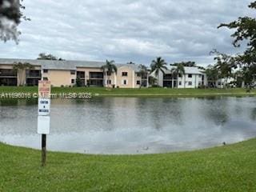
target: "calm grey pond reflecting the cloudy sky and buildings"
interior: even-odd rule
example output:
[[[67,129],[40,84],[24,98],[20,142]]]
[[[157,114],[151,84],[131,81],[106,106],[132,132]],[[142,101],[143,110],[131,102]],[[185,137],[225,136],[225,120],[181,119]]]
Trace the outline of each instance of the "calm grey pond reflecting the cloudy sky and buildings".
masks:
[[[41,147],[37,101],[0,101],[0,142]],[[256,98],[53,99],[47,150],[153,154],[256,136]]]

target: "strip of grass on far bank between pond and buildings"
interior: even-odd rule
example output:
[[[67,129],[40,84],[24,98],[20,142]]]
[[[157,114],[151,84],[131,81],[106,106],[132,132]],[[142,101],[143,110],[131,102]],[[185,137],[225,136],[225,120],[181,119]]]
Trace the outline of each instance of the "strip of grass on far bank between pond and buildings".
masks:
[[[0,86],[2,93],[37,93],[38,88],[32,86],[15,87]],[[61,93],[91,93],[96,96],[166,96],[166,97],[194,97],[194,96],[246,96],[256,95],[256,90],[246,93],[245,89],[164,89],[164,88],[143,88],[143,89],[106,89],[104,87],[53,87],[53,94]]]

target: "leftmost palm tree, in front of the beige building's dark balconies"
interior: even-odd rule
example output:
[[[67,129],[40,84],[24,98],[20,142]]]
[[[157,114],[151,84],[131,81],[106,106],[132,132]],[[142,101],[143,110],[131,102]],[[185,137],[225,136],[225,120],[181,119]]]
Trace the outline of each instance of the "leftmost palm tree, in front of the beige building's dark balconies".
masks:
[[[18,75],[18,86],[25,85],[26,70],[31,70],[33,68],[34,66],[28,62],[14,62],[13,69],[17,72]]]

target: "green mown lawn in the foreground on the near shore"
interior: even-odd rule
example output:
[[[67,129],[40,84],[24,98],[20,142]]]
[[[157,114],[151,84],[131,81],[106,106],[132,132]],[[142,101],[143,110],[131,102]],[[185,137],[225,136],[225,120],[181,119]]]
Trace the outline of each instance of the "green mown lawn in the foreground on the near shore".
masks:
[[[0,191],[256,191],[256,139],[207,150],[87,155],[0,144]]]

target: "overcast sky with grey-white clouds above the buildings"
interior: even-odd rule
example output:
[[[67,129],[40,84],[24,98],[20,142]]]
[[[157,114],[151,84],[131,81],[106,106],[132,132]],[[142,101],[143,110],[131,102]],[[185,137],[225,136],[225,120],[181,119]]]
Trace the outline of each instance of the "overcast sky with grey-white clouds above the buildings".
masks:
[[[0,42],[1,58],[37,58],[50,53],[66,60],[106,59],[150,65],[213,63],[210,50],[234,54],[231,31],[221,22],[253,15],[252,0],[24,0],[20,42]]]

